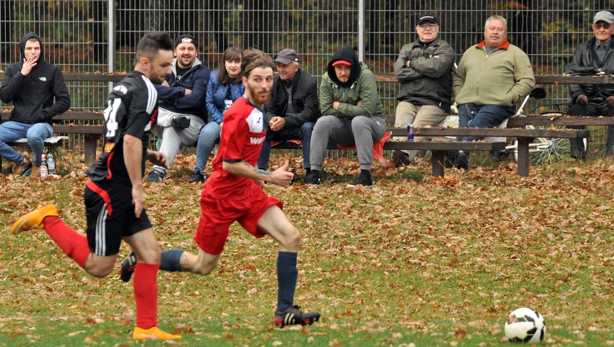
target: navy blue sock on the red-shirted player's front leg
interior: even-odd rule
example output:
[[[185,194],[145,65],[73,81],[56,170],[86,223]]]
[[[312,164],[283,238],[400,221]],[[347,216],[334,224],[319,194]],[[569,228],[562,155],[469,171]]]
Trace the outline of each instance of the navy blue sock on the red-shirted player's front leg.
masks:
[[[297,288],[297,254],[279,252],[277,256],[277,310],[284,311],[294,305],[294,290]]]

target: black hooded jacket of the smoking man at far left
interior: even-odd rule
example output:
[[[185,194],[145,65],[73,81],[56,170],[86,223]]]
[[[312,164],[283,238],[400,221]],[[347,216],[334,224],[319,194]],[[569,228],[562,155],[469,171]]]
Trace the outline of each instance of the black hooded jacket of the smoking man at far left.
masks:
[[[34,33],[23,36],[19,44],[21,61],[7,66],[0,87],[0,99],[15,106],[9,120],[24,124],[52,123],[54,115],[63,114],[71,107],[71,97],[60,69],[44,61],[42,44],[41,57],[36,66],[28,76],[21,74],[26,41],[31,38],[41,41]]]

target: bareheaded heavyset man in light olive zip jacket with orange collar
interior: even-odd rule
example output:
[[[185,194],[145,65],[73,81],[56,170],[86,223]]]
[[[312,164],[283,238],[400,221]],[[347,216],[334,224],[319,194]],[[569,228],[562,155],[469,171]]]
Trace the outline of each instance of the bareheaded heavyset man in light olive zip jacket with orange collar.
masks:
[[[452,87],[459,108],[459,125],[494,128],[516,113],[516,101],[535,85],[529,57],[507,40],[507,20],[500,15],[484,24],[484,41],[462,55]],[[480,138],[460,137],[458,141]],[[446,161],[468,169],[468,152],[452,152]]]

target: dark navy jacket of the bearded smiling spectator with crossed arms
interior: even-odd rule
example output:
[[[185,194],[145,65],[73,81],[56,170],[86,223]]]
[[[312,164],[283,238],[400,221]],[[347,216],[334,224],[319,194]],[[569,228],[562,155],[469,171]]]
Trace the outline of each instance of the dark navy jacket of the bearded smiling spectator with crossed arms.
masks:
[[[196,58],[192,68],[185,72],[181,80],[177,81],[177,58],[171,64],[172,74],[166,76],[166,82],[171,87],[156,85],[158,90],[159,107],[168,111],[193,114],[204,122],[207,122],[207,109],[204,106],[204,98],[207,93],[209,83],[209,69]],[[184,95],[186,89],[191,89],[192,93]]]

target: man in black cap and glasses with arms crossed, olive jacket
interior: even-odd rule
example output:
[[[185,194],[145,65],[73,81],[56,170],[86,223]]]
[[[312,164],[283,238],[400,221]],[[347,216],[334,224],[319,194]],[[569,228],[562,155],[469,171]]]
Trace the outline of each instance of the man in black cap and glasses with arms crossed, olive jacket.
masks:
[[[437,36],[435,15],[422,15],[416,32],[418,39],[403,45],[394,63],[394,74],[401,83],[395,128],[435,126],[450,113],[454,50]],[[418,150],[394,150],[392,161],[395,166],[409,165],[416,154]]]

